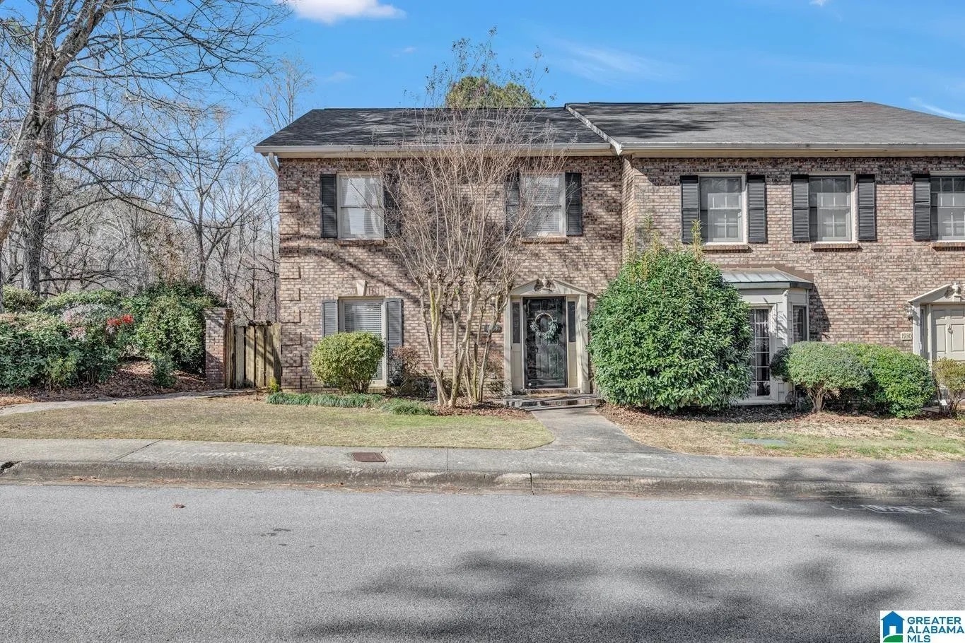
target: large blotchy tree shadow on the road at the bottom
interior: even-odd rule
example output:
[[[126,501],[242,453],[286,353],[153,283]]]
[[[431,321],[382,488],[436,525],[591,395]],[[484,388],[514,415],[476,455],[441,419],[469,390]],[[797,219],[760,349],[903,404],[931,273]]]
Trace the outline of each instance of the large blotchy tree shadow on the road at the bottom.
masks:
[[[287,632],[306,640],[815,641],[870,640],[898,582],[844,589],[829,560],[763,574],[701,574],[660,564],[613,574],[592,564],[533,563],[476,552],[445,574],[387,571],[358,587],[378,613]],[[594,596],[594,594],[596,596]],[[658,605],[658,606],[654,606]],[[832,607],[824,611],[821,606]]]

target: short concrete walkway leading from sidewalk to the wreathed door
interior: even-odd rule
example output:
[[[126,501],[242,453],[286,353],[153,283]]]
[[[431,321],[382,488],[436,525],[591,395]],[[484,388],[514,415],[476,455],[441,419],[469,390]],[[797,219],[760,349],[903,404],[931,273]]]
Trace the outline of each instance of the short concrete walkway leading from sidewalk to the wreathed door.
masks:
[[[542,451],[584,451],[590,453],[671,453],[668,449],[631,440],[619,426],[590,407],[538,409],[536,417],[556,438]]]

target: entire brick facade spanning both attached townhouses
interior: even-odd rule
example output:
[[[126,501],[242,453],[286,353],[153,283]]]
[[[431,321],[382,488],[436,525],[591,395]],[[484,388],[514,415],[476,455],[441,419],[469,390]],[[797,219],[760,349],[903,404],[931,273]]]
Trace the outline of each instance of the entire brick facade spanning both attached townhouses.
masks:
[[[402,297],[404,343],[427,352],[414,289],[387,248],[319,238],[319,175],[370,169],[365,159],[281,161],[284,388],[317,388],[308,355],[320,337],[321,302],[355,296],[363,281],[367,296]],[[626,250],[640,246],[647,219],[665,241],[679,239],[681,175],[730,172],[766,177],[768,243],[729,252],[708,249],[707,256],[722,267],[777,266],[810,277],[815,284],[811,302],[815,338],[910,349],[910,342],[899,337],[911,328],[905,302],[944,283],[965,281],[965,252],[940,250],[912,237],[911,175],[965,173],[961,157],[629,160],[593,156],[567,159],[565,171],[583,174],[584,235],[567,237],[564,243],[527,244],[521,283],[549,278],[598,293],[617,274]],[[847,250],[818,250],[810,243],[791,241],[790,175],[817,172],[875,174],[877,241]]]

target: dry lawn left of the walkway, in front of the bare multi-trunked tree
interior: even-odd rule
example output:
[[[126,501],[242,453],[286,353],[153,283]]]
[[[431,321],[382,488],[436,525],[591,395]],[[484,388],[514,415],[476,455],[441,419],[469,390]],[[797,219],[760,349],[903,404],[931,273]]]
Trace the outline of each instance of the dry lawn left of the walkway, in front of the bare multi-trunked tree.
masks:
[[[527,449],[553,440],[529,415],[391,415],[372,409],[270,405],[253,396],[119,402],[0,415],[0,438],[495,449]]]

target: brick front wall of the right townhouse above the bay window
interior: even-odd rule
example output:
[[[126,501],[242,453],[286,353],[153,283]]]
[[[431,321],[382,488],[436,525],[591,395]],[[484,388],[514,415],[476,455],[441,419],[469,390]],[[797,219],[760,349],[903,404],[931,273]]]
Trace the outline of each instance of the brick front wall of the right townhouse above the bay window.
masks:
[[[962,157],[717,158],[632,162],[633,185],[644,216],[665,240],[680,238],[680,176],[733,172],[763,174],[767,182],[766,244],[707,257],[722,267],[779,266],[812,277],[812,336],[911,349],[905,303],[950,281],[965,280],[965,252],[943,250],[912,234],[913,173],[965,172]],[[818,250],[791,241],[790,175],[817,172],[875,174],[877,235],[848,250]]]

